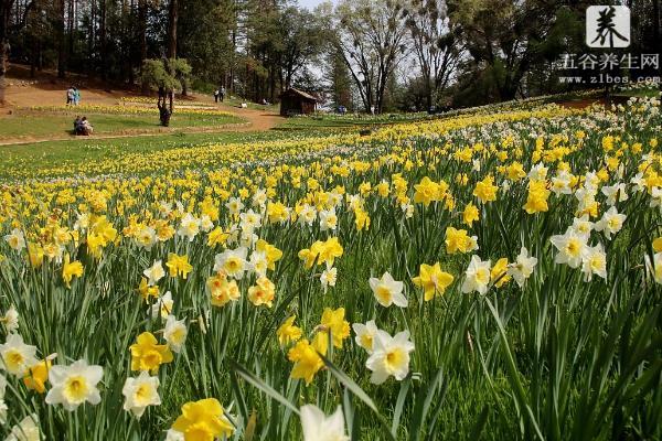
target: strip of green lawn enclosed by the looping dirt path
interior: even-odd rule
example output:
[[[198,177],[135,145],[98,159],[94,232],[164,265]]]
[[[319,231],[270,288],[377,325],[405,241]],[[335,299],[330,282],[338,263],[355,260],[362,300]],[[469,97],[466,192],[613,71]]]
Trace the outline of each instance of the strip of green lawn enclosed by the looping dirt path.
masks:
[[[35,112],[17,111],[0,119],[0,140],[23,137],[62,137],[71,135],[76,112]],[[154,115],[114,115],[87,114],[95,133],[121,133],[126,130],[157,130],[159,116]],[[244,122],[242,118],[217,115],[177,115],[172,116],[170,127],[214,127]]]

